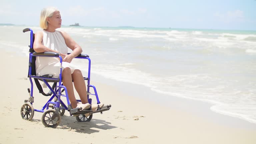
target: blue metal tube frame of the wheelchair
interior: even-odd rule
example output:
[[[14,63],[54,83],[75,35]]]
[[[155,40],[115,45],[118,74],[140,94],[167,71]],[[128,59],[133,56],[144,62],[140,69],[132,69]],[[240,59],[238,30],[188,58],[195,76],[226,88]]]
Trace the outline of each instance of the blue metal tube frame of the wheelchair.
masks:
[[[30,94],[30,98],[29,98],[29,100],[25,100],[25,102],[29,102],[31,104],[31,106],[32,106],[32,104],[34,102],[34,97],[33,97],[33,90],[34,89],[33,89],[32,78],[42,80],[47,85],[47,87],[50,89],[51,93],[50,94],[48,93],[48,94],[49,95],[52,94],[51,98],[47,101],[47,103],[41,109],[33,109],[32,108],[34,111],[42,112],[43,113],[43,112],[45,112],[45,109],[46,110],[49,109],[49,104],[53,104],[53,108],[55,110],[57,110],[57,112],[55,111],[55,115],[52,117],[52,118],[54,118],[54,117],[56,117],[57,113],[59,112],[59,109],[68,110],[70,112],[70,116],[72,116],[72,114],[84,114],[84,113],[89,113],[89,112],[90,112],[90,114],[96,113],[96,112],[101,112],[102,113],[102,111],[106,111],[106,110],[110,109],[111,105],[108,105],[107,108],[105,108],[105,109],[100,109],[99,106],[98,106],[98,109],[97,109],[96,112],[93,112],[90,109],[90,110],[87,110],[87,111],[84,110],[84,113],[83,112],[81,113],[81,111],[80,111],[81,109],[80,108],[72,109],[72,107],[70,105],[70,102],[69,102],[69,97],[68,97],[67,89],[62,84],[62,75],[61,75],[61,72],[62,72],[62,58],[61,58],[61,56],[59,55],[59,53],[55,53],[55,52],[36,53],[36,52],[31,51],[31,49],[33,49],[34,34],[33,34],[33,30],[30,29],[30,28],[26,28],[26,29],[23,30],[23,32],[27,32],[27,31],[30,31],[30,46],[29,46],[30,47],[30,54],[29,54],[29,72],[28,72],[28,77],[29,77],[29,80],[30,80],[30,83],[31,83],[31,92],[28,89],[28,92]],[[36,56],[40,56],[40,57],[58,57],[60,59],[59,78],[52,78],[52,77],[47,77],[47,76],[32,75],[32,66],[31,66],[32,58],[36,57]],[[84,80],[87,80],[87,83],[88,83],[88,85],[87,85],[87,99],[88,99],[88,102],[90,104],[92,104],[92,99],[89,98],[89,95],[95,95],[96,99],[97,99],[97,104],[100,104],[99,97],[98,97],[97,90],[96,90],[95,86],[94,85],[90,85],[91,60],[90,60],[89,56],[86,55],[86,54],[80,54],[79,56],[77,56],[75,58],[87,59],[89,61],[89,64],[88,64],[88,78],[84,78]],[[47,81],[58,82],[58,85],[56,83],[56,86],[54,88],[52,88]],[[94,89],[94,94],[90,93],[90,87],[92,87]],[[66,95],[62,94],[63,89],[65,90]],[[65,103],[61,100],[61,96],[66,97],[67,105],[65,105]],[[57,100],[52,101],[55,97],[57,98]],[[77,101],[81,102],[81,100],[77,100]],[[61,107],[60,107],[60,104],[62,105]]]

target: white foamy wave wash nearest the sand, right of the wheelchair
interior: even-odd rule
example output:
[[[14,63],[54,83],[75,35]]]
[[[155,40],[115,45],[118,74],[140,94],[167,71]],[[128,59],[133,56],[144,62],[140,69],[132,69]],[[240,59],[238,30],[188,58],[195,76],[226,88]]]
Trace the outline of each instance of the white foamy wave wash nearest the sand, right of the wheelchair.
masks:
[[[253,95],[255,95],[253,91],[247,93],[241,90],[231,90],[233,87],[231,83],[227,84],[227,81],[209,74],[157,77],[151,73],[127,67],[133,65],[133,63],[122,63],[115,66],[97,64],[92,66],[92,73],[117,81],[143,85],[149,87],[152,91],[169,96],[209,102],[214,104],[211,110],[215,112],[239,117],[254,123],[256,122],[256,102],[251,100]],[[152,77],[154,77],[153,80],[151,79]],[[207,85],[204,85],[206,81]],[[248,98],[243,99],[245,96]],[[245,104],[250,107],[248,102],[251,106],[250,109],[240,109],[245,107]],[[233,106],[235,105],[239,108],[234,109]],[[249,115],[248,112],[252,115]]]

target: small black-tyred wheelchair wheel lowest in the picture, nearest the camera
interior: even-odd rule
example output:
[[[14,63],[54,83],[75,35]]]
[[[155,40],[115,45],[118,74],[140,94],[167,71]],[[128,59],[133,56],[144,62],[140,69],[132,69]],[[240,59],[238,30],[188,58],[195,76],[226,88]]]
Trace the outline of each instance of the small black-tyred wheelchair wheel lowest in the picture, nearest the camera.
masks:
[[[56,128],[61,121],[60,113],[58,113],[57,117],[52,119],[53,114],[55,113],[55,109],[48,109],[44,111],[42,115],[42,123],[45,127]]]

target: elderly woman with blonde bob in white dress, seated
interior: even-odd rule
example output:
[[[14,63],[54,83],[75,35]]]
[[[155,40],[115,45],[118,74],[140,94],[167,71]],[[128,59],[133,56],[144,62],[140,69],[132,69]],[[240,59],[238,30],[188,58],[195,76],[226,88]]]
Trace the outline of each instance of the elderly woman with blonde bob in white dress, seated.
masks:
[[[41,52],[56,52],[60,53],[62,57],[62,81],[67,88],[69,100],[72,108],[82,107],[84,109],[90,108],[87,99],[86,85],[83,75],[79,69],[71,64],[74,57],[82,53],[82,48],[66,33],[57,31],[61,27],[61,15],[57,8],[48,7],[41,11],[40,27],[43,29],[35,33],[34,50]],[[68,53],[68,48],[73,52]],[[45,74],[52,74],[53,77],[59,77],[60,60],[55,57],[37,57],[36,58],[36,74],[39,76]],[[79,94],[82,104],[77,102],[74,87]],[[100,104],[102,108],[104,104]],[[97,105],[92,105],[92,110],[96,110]]]

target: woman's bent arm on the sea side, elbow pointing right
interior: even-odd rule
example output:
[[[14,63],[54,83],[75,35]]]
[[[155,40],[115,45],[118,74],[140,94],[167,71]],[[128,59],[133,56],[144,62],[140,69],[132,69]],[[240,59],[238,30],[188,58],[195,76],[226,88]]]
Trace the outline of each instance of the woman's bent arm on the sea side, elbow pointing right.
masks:
[[[71,54],[66,55],[63,59],[63,61],[70,63],[72,59],[81,54],[83,50],[66,32],[61,31],[61,34],[65,39],[66,45],[73,51]]]

